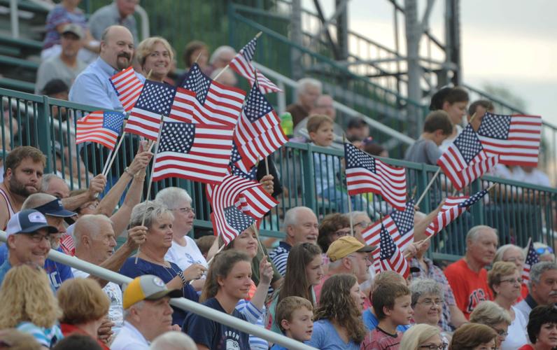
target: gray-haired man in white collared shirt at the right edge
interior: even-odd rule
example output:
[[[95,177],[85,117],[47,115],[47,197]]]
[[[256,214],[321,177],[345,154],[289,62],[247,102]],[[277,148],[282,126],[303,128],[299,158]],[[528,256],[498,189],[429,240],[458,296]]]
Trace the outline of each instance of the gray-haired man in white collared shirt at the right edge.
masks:
[[[538,305],[557,303],[557,263],[542,261],[530,269],[530,293],[515,305],[528,319]]]

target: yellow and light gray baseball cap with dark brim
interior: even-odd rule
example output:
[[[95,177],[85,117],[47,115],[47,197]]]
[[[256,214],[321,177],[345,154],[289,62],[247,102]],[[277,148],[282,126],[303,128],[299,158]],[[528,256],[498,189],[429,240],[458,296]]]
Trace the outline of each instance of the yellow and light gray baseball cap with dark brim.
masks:
[[[127,309],[143,300],[159,300],[162,297],[182,297],[179,289],[169,289],[162,279],[153,274],[136,277],[124,289],[123,307]]]

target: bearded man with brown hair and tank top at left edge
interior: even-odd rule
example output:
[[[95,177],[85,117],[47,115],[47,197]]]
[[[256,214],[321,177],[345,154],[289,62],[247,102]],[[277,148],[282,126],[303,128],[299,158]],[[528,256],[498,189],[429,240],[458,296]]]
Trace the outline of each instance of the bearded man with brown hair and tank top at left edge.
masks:
[[[0,183],[0,227],[21,210],[24,200],[41,190],[45,155],[31,146],[14,148],[6,157],[4,181]]]

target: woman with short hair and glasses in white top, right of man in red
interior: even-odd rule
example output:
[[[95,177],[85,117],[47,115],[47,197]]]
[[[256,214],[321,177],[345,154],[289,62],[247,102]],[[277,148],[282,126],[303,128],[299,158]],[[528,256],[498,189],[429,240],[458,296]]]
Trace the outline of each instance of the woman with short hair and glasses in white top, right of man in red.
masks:
[[[528,321],[523,314],[514,307],[517,296],[520,295],[520,285],[522,282],[519,269],[512,262],[498,261],[493,264],[488,272],[488,283],[493,290],[495,303],[505,309],[509,314],[511,323],[508,328],[508,336],[502,344],[502,350],[517,349],[526,344],[526,325]]]

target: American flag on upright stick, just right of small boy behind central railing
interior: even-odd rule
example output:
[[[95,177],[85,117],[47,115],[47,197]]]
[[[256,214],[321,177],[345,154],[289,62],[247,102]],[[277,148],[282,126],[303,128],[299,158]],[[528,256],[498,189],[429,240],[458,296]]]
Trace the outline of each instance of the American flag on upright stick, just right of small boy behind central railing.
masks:
[[[406,208],[406,169],[386,165],[348,143],[344,144],[344,157],[348,195],[376,193],[395,209]]]

